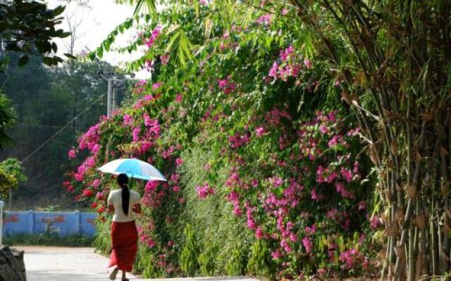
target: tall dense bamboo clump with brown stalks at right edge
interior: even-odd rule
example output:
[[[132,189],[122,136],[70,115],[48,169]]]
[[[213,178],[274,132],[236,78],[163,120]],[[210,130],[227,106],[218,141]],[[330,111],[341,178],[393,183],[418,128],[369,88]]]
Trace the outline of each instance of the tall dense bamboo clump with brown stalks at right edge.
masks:
[[[291,0],[343,81],[385,207],[381,279],[450,272],[450,2]],[[337,43],[344,39],[345,44]],[[343,63],[345,62],[345,63]],[[335,71],[336,72],[336,71]]]

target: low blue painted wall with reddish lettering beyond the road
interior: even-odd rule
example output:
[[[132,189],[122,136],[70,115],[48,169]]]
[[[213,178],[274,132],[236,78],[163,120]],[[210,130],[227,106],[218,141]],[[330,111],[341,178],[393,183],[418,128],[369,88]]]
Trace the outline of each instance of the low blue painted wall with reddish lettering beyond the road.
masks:
[[[80,213],[80,211],[6,211],[3,235],[52,233],[60,236],[94,236],[96,218],[95,213]]]

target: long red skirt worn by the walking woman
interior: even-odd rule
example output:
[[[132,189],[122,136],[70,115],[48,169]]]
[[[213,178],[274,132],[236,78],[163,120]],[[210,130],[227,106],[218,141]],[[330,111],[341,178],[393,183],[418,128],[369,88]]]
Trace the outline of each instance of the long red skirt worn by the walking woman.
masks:
[[[110,267],[117,266],[119,270],[132,271],[138,249],[137,240],[135,221],[113,221],[111,224],[113,251],[110,256]]]

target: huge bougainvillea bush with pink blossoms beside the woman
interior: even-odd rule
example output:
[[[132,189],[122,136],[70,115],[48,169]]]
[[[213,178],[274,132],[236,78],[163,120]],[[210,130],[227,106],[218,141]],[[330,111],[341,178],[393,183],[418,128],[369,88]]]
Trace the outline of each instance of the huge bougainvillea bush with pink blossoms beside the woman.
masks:
[[[133,185],[144,207],[135,269],[145,277],[376,269],[380,221],[359,128],[288,13],[227,26],[201,4],[138,22],[128,48],[146,54],[131,67],[153,80],[137,81],[68,155],[79,164],[65,185],[99,213],[99,249],[109,251],[105,204],[116,185],[95,168],[136,157],[168,178]]]

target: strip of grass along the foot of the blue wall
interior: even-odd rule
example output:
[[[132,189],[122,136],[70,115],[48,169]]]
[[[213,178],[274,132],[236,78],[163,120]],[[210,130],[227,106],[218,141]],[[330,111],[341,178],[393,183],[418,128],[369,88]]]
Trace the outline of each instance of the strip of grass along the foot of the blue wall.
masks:
[[[94,237],[72,235],[14,235],[4,236],[3,244],[9,246],[62,246],[62,247],[92,247]]]

